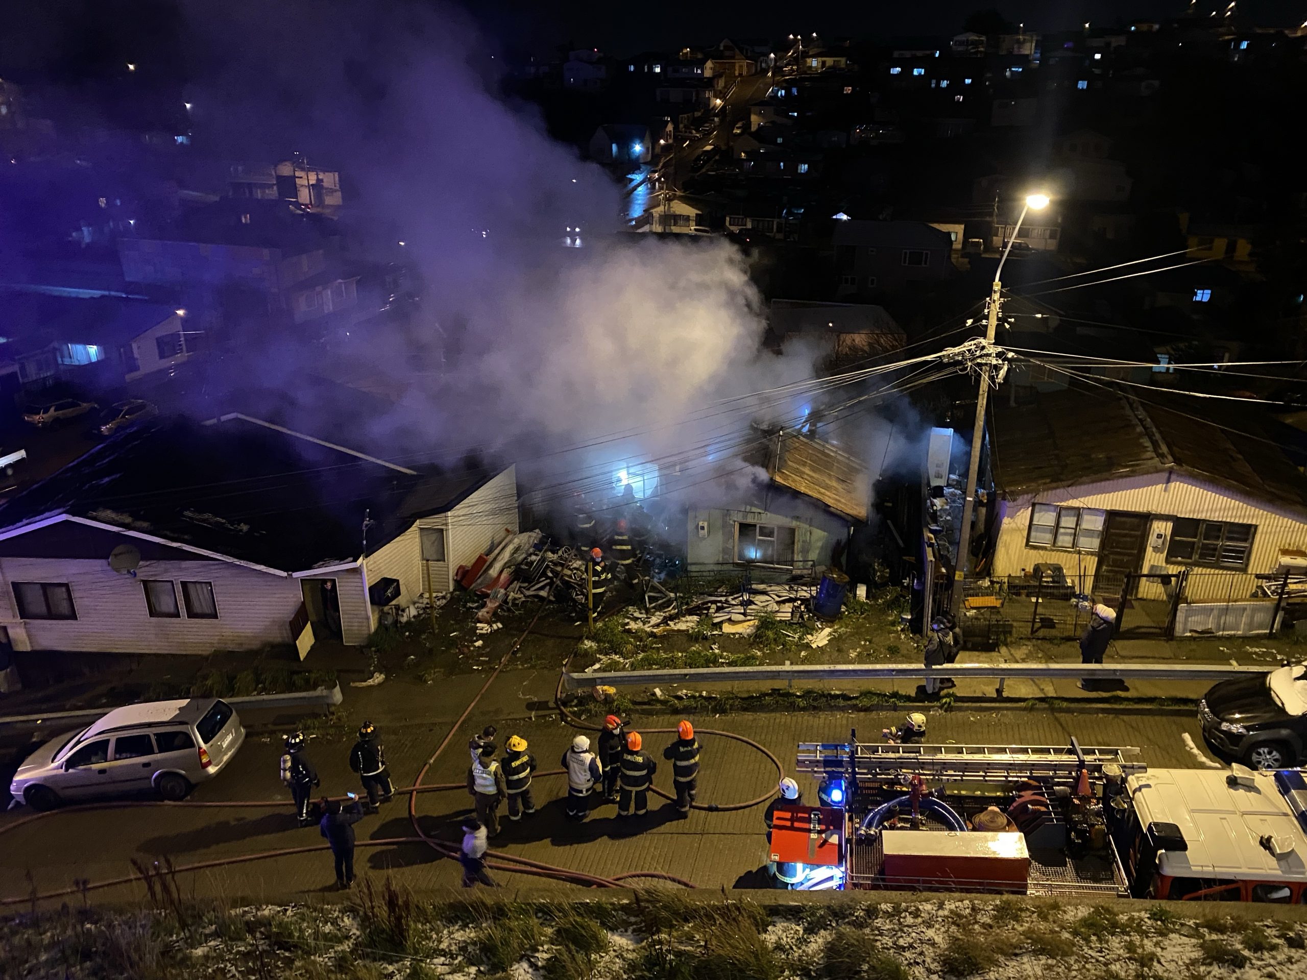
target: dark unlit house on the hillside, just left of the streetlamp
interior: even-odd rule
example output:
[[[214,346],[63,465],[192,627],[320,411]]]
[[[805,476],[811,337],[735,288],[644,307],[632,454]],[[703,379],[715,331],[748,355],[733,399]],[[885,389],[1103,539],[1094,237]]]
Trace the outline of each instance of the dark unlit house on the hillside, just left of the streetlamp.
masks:
[[[839,294],[897,290],[953,273],[953,240],[924,221],[839,221],[835,223]]]

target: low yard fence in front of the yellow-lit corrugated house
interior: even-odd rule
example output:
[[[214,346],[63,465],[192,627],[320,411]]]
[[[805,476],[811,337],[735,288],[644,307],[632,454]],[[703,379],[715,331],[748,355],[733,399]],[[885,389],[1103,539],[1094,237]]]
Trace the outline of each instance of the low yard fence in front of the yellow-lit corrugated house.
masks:
[[[1116,612],[1119,639],[1274,636],[1290,604],[1307,600],[1307,578],[1182,568],[1125,572],[1119,591],[1094,592],[1094,575],[1043,568],[1033,575],[967,583],[961,622],[968,644],[1013,639],[1064,640],[1080,635],[1093,596]],[[1252,588],[1249,589],[1249,584]]]

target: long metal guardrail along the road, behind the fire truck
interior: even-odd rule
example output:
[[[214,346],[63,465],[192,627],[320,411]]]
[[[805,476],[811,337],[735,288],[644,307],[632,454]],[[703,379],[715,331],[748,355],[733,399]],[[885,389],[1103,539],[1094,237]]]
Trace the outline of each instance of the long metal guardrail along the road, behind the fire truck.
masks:
[[[707,666],[685,670],[596,670],[593,673],[563,674],[569,690],[609,685],[691,683],[720,681],[881,681],[893,678],[972,677],[997,678],[999,693],[1002,682],[1012,678],[1059,681],[1093,678],[1103,681],[1223,681],[1231,677],[1264,674],[1264,666],[1231,666],[1229,664],[945,664],[928,668],[921,664],[872,664],[839,666],[804,664],[797,666]]]

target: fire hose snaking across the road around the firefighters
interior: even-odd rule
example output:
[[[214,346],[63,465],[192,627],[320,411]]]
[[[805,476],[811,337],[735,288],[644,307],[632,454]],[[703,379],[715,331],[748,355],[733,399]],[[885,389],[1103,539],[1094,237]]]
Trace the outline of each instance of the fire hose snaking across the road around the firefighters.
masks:
[[[426,774],[430,771],[431,766],[435,763],[435,760],[439,758],[439,755],[444,751],[444,749],[448,747],[450,741],[454,738],[454,736],[461,728],[463,723],[467,721],[468,716],[476,708],[477,703],[481,700],[482,695],[485,695],[485,693],[489,690],[489,687],[494,682],[494,679],[499,676],[499,673],[507,665],[508,660],[512,657],[514,653],[518,652],[518,649],[520,649],[520,647],[525,642],[527,636],[531,635],[531,631],[535,629],[536,622],[540,619],[540,615],[541,615],[542,612],[544,612],[544,602],[540,604],[540,608],[536,610],[536,614],[535,614],[535,617],[532,617],[531,623],[527,626],[527,629],[521,632],[520,636],[518,636],[518,639],[514,642],[514,644],[503,655],[503,657],[495,665],[494,670],[490,672],[490,676],[486,678],[486,682],[481,686],[481,690],[477,691],[476,696],[472,699],[472,702],[468,704],[468,707],[464,708],[464,711],[459,716],[459,719],[450,727],[448,733],[444,736],[444,738],[437,746],[435,751],[431,753],[430,758],[422,766],[421,771],[417,775],[417,779],[414,779],[414,781],[413,781],[413,785],[412,787],[404,787],[401,789],[396,789],[395,791],[396,794],[408,794],[408,797],[409,797],[409,822],[413,825],[413,830],[416,831],[417,836],[414,836],[414,838],[382,838],[382,839],[372,839],[372,840],[361,840],[361,841],[357,841],[357,847],[383,847],[383,845],[412,844],[412,843],[421,841],[421,843],[427,844],[431,849],[434,849],[442,857],[457,857],[459,856],[459,853],[461,852],[460,847],[455,845],[452,841],[443,841],[443,840],[439,840],[437,838],[433,838],[433,836],[430,836],[429,834],[426,834],[421,828],[421,826],[418,825],[418,821],[417,821],[417,794],[418,793],[442,792],[442,791],[463,789],[464,788],[465,784],[463,784],[463,783],[439,783],[439,784],[431,784],[431,785],[422,785],[422,780],[426,777]],[[570,657],[569,657],[569,660],[570,660]],[[563,670],[566,670],[566,666],[567,665],[565,662],[563,664]],[[600,730],[597,725],[591,725],[591,724],[583,721],[582,719],[576,717],[574,713],[571,713],[570,711],[567,711],[567,708],[562,704],[562,676],[559,676],[559,678],[558,678],[558,686],[557,686],[557,689],[554,691],[554,703],[558,707],[559,713],[562,715],[563,720],[567,724],[572,725],[574,728],[579,728],[579,729],[584,729],[584,730]],[[670,728],[654,728],[654,729],[647,729],[647,730],[651,732],[651,733],[670,733],[670,732],[674,732],[676,729],[670,729]],[[749,746],[757,749],[758,751],[761,751],[763,755],[766,755],[771,760],[771,763],[776,767],[776,772],[779,775],[782,775],[782,776],[784,775],[784,768],[782,767],[780,760],[769,749],[766,749],[765,746],[762,746],[758,742],[753,741],[752,738],[745,738],[744,736],[735,734],[733,732],[720,732],[720,730],[715,730],[715,729],[701,729],[701,730],[702,730],[703,734],[712,734],[712,736],[720,736],[720,737],[724,737],[724,738],[733,738],[735,741],[742,742],[745,745],[749,745]],[[563,775],[563,774],[565,774],[565,770],[550,770],[548,772],[541,772],[541,774],[537,774],[537,775],[538,776],[555,776],[555,775]],[[663,797],[664,800],[674,800],[674,797],[670,793],[667,793],[665,791],[659,789],[657,787],[651,787],[651,789],[654,791],[654,793],[656,793],[657,796]],[[748,809],[750,806],[758,806],[759,804],[766,802],[767,800],[770,800],[772,797],[774,793],[775,793],[775,791],[769,791],[767,793],[765,793],[765,794],[762,794],[762,796],[759,796],[759,797],[757,797],[754,800],[749,800],[746,802],[738,802],[738,804],[699,804],[699,802],[695,802],[695,804],[691,804],[691,806],[694,806],[694,809],[698,809],[698,810],[708,810],[708,811],[744,810],[744,809]],[[342,798],[346,798],[346,797],[332,797],[332,798],[341,798],[342,800]],[[230,800],[230,801],[135,800],[135,801],[118,801],[118,802],[107,802],[107,804],[81,804],[81,805],[76,805],[76,806],[63,808],[63,809],[60,809],[58,811],[52,811],[52,813],[73,813],[73,811],[77,811],[77,810],[120,809],[120,808],[127,808],[127,806],[280,808],[280,806],[285,806],[285,800]],[[24,818],[18,819],[18,821],[14,821],[13,823],[9,823],[9,825],[5,825],[5,826],[0,827],[0,835],[8,834],[8,832],[10,832],[13,830],[24,827],[24,826],[31,823],[33,821],[38,821],[38,819],[41,819],[43,817],[52,815],[52,813],[35,813],[35,814],[31,814],[29,817],[24,817]],[[226,866],[226,865],[246,864],[246,862],[250,862],[250,861],[261,861],[261,860],[265,860],[265,858],[288,857],[288,856],[291,856],[291,855],[303,855],[303,853],[312,853],[312,852],[328,851],[328,849],[331,849],[329,844],[310,844],[310,845],[303,845],[303,847],[278,848],[278,849],[274,849],[274,851],[260,851],[260,852],[252,853],[252,855],[237,855],[234,857],[221,857],[221,858],[214,858],[214,860],[210,860],[210,861],[199,861],[199,862],[190,864],[190,865],[173,866],[171,872],[174,872],[174,873],[200,872],[200,870],[207,870],[207,869],[210,869],[210,868],[221,868],[221,866]],[[515,873],[515,874],[535,874],[535,875],[538,875],[538,877],[542,877],[542,878],[553,878],[553,879],[557,879],[557,881],[567,881],[567,882],[572,882],[572,883],[576,883],[576,885],[586,885],[586,886],[591,886],[591,887],[620,889],[620,887],[622,887],[622,882],[623,881],[629,881],[629,879],[633,879],[633,878],[651,878],[651,879],[657,879],[657,881],[673,882],[676,885],[681,885],[682,887],[687,887],[687,889],[693,889],[694,887],[694,885],[691,882],[689,882],[689,881],[686,881],[684,878],[678,878],[678,877],[676,877],[673,874],[667,874],[665,872],[623,872],[622,874],[613,875],[612,878],[603,878],[603,877],[593,875],[593,874],[586,874],[583,872],[574,872],[574,870],[570,870],[567,868],[561,868],[561,866],[557,866],[557,865],[549,865],[549,864],[545,864],[542,861],[533,861],[533,860],[527,858],[527,857],[519,857],[516,855],[506,855],[506,853],[498,853],[498,852],[488,852],[486,866],[491,868],[494,870],[502,870],[502,872],[508,872],[508,873]],[[46,899],[55,899],[55,898],[65,898],[68,895],[77,895],[77,894],[82,894],[82,892],[86,892],[86,891],[95,891],[95,890],[99,890],[99,889],[108,889],[108,887],[114,887],[114,886],[119,886],[119,885],[131,885],[132,882],[144,881],[145,878],[146,878],[145,874],[136,873],[136,874],[122,875],[119,878],[107,878],[105,881],[98,881],[98,882],[82,882],[80,885],[74,885],[74,886],[64,887],[64,889],[56,889],[56,890],[47,891],[47,892],[37,892],[37,894],[24,895],[24,896],[0,898],[0,907],[22,904],[22,903],[29,903],[29,902],[34,903],[34,902],[42,902],[42,900],[46,900]]]

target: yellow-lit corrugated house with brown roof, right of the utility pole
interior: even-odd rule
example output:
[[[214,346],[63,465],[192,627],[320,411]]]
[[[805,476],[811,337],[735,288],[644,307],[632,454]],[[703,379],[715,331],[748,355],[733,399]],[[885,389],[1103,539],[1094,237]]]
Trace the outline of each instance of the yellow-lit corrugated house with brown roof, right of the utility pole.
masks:
[[[1060,564],[1116,606],[1123,591],[1168,597],[1184,571],[1184,596],[1199,608],[1183,621],[1238,632],[1227,617],[1248,612],[1239,604],[1253,597],[1256,575],[1297,567],[1307,551],[1307,477],[1274,440],[1240,438],[1189,408],[1076,389],[1040,396],[1035,409],[1000,399],[993,574]],[[1222,422],[1259,433],[1253,417]],[[1260,610],[1261,630],[1269,613]]]

